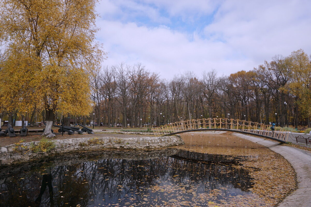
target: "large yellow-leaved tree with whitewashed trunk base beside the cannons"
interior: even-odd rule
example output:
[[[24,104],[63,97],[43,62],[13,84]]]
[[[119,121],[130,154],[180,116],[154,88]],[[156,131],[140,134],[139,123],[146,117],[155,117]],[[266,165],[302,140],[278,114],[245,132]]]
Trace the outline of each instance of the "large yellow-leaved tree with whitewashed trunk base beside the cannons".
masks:
[[[22,114],[34,104],[53,137],[56,112],[91,111],[90,74],[104,52],[94,43],[96,0],[2,0],[0,104]],[[4,44],[3,44],[4,43]]]

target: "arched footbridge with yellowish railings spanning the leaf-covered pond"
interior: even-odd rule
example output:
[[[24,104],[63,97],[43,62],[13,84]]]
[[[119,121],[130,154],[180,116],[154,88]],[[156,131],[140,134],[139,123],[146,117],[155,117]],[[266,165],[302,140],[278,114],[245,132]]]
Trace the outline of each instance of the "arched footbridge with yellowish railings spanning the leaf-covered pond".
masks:
[[[170,136],[174,134],[195,132],[195,131],[230,131],[244,133],[272,139],[281,143],[286,143],[288,132],[284,129],[271,131],[271,125],[239,119],[192,119],[175,123],[165,124],[161,127],[153,128],[158,136]]]

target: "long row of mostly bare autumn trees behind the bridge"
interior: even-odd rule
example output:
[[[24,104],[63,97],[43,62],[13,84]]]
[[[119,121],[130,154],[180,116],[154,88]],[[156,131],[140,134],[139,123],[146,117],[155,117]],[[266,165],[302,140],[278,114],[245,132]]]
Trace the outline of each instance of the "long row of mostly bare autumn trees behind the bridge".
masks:
[[[221,117],[311,127],[310,57],[300,49],[229,76],[220,77],[216,70],[199,76],[188,71],[170,80],[142,64],[121,63],[93,73],[90,96],[94,110],[84,123],[94,113],[97,124],[105,126]]]

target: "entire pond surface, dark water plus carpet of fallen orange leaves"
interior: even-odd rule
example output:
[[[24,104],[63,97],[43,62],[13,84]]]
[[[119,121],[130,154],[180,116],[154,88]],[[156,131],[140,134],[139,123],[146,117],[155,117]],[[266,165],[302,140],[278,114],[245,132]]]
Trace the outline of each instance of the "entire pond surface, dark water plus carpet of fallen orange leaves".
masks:
[[[187,136],[186,145],[176,147],[182,150],[170,156],[125,160],[94,154],[69,165],[43,163],[3,182],[0,205],[36,200],[47,171],[55,207],[274,206],[295,187],[290,164],[265,147],[230,134]],[[49,190],[42,200],[49,206]]]

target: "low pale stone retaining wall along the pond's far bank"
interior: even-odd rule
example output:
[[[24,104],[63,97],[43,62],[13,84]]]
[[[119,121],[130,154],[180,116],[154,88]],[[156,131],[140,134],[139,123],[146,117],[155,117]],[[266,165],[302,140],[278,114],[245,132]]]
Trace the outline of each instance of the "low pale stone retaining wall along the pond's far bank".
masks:
[[[0,166],[27,162],[49,155],[71,151],[98,150],[103,148],[156,149],[184,144],[180,136],[134,138],[92,137],[56,139],[52,142],[54,142],[55,147],[48,153],[35,153],[30,150],[30,147],[32,145],[38,145],[39,141],[21,143],[18,147],[15,144],[3,146],[0,148]]]

